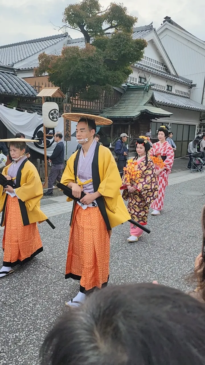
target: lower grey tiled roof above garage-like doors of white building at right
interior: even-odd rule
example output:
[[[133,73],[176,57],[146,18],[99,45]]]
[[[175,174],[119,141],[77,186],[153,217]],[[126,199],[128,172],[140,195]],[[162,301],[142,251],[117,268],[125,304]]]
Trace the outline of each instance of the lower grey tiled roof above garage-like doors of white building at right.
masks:
[[[154,96],[160,105],[205,112],[205,105],[197,103],[187,97],[156,90],[154,90]]]

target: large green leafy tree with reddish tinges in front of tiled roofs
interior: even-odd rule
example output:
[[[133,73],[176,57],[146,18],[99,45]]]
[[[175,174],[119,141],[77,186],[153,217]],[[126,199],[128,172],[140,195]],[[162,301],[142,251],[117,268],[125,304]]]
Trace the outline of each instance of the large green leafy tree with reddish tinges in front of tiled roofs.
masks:
[[[54,85],[69,88],[86,100],[96,100],[103,91],[120,87],[131,65],[143,57],[144,39],[133,39],[137,18],[127,13],[122,4],[111,3],[102,11],[98,0],[83,0],[69,5],[64,12],[66,28],[80,31],[85,48],[65,46],[61,55],[39,55],[35,76],[48,73]]]

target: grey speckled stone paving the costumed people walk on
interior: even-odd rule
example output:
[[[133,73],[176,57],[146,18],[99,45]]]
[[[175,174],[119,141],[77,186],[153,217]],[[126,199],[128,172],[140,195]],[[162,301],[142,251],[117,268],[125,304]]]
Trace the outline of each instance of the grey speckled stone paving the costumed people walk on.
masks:
[[[185,278],[201,250],[205,195],[181,192],[205,193],[205,173],[173,173],[169,184],[163,213],[149,215],[150,235],[144,233],[130,244],[128,223],[113,229],[109,285],[158,280],[181,290],[190,288]],[[0,365],[39,364],[38,351],[46,332],[68,310],[65,301],[79,289],[77,281],[64,278],[71,204],[58,191],[44,198],[41,206],[56,226],[52,230],[47,223],[39,225],[43,252],[0,279]]]

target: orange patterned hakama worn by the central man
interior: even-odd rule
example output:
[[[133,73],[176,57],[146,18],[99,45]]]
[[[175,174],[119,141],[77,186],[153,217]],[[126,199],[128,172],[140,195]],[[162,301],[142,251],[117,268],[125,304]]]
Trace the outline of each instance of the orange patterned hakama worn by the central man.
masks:
[[[109,235],[99,208],[83,210],[75,204],[65,278],[80,280],[85,291],[101,288],[108,282],[109,255]]]

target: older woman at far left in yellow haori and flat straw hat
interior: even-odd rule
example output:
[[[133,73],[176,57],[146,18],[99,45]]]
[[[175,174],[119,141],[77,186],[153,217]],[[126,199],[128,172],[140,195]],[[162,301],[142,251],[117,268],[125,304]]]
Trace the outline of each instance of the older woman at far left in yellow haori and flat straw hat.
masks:
[[[3,267],[0,278],[13,272],[13,266],[23,265],[43,251],[36,222],[47,220],[40,210],[43,196],[42,183],[35,166],[25,155],[26,143],[21,138],[5,139],[9,142],[12,164],[6,166],[3,175],[13,180],[16,188],[0,185],[0,212],[3,236]]]

